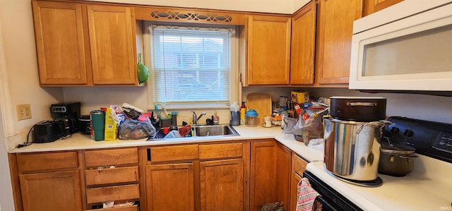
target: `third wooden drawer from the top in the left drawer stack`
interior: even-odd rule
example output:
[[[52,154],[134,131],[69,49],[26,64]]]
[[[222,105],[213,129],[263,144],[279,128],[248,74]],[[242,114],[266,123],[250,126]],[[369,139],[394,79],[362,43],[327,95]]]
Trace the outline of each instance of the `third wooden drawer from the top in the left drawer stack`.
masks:
[[[140,186],[138,184],[86,188],[86,202],[88,204],[138,198],[140,198]]]

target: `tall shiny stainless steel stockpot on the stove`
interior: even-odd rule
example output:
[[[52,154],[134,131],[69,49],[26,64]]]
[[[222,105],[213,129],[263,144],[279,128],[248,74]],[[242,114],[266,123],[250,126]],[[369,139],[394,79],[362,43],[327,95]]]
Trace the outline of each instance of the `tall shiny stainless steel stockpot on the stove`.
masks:
[[[336,176],[355,181],[378,177],[381,147],[379,121],[342,121],[323,118],[326,169]]]

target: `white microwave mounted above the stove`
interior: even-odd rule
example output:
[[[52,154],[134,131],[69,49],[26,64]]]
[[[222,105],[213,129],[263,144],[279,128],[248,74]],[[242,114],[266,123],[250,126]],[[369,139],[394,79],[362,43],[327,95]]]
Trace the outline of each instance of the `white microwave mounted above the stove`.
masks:
[[[452,91],[452,1],[405,0],[355,20],[349,88]]]

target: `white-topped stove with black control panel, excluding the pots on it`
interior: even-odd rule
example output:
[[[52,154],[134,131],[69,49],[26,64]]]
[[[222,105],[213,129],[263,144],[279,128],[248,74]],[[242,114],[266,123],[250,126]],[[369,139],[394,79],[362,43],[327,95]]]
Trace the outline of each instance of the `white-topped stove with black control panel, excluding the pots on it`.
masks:
[[[306,173],[328,187],[324,194],[333,198],[333,207],[348,201],[355,208],[347,210],[452,210],[452,124],[400,116],[388,121],[383,135],[416,149],[414,169],[406,176],[379,174],[382,184],[364,186],[331,174],[323,162],[309,163]]]

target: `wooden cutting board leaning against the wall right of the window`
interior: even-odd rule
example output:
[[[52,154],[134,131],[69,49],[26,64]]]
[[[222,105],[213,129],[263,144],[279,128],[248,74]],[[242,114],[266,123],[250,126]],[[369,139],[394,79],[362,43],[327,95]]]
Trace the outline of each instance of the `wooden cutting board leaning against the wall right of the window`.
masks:
[[[254,109],[259,114],[259,124],[263,125],[263,117],[271,116],[271,96],[265,93],[249,93],[246,95],[246,110]]]

